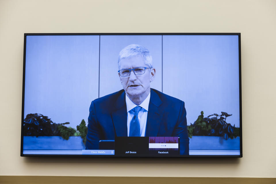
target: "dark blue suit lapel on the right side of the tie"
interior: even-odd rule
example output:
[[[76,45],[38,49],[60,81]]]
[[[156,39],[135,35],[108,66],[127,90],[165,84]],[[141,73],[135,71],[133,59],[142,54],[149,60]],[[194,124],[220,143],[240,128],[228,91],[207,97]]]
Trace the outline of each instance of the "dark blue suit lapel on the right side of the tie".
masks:
[[[160,112],[160,108],[158,108],[161,104],[162,101],[160,100],[159,96],[151,89],[145,136],[157,136],[163,117],[162,113]]]

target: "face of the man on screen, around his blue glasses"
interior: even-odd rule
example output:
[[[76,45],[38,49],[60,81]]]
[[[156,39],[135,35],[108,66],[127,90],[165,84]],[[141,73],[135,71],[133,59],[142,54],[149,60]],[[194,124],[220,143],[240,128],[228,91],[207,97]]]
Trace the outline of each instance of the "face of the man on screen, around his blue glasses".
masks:
[[[129,59],[122,59],[119,62],[120,70],[133,69],[136,67],[146,67],[143,57],[133,56]],[[120,74],[119,74],[120,76]],[[127,77],[120,76],[120,81],[124,91],[130,96],[142,96],[150,91],[150,82],[154,80],[155,69],[146,69],[144,74],[135,75],[133,70]]]

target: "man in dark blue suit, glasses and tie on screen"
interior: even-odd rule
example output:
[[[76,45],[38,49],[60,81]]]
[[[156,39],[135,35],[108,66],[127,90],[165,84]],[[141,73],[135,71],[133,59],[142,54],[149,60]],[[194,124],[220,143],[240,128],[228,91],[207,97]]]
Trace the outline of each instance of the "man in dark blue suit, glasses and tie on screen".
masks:
[[[117,137],[180,137],[180,154],[189,154],[184,102],[150,88],[155,68],[141,45],[122,49],[118,75],[123,89],[92,101],[86,149],[99,149],[100,140]]]

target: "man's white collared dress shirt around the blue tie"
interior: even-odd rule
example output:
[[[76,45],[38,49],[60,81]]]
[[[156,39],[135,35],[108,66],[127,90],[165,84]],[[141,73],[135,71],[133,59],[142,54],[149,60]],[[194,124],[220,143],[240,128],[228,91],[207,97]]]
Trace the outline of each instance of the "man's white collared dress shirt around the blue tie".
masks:
[[[149,103],[150,103],[150,93],[149,95],[147,95],[147,98],[139,105],[141,107],[141,110],[138,113],[138,119],[140,123],[140,137],[145,137]],[[127,136],[129,137],[130,122],[134,116],[134,110],[132,109],[135,108],[137,105],[134,104],[127,95],[126,95],[126,104],[127,104]]]

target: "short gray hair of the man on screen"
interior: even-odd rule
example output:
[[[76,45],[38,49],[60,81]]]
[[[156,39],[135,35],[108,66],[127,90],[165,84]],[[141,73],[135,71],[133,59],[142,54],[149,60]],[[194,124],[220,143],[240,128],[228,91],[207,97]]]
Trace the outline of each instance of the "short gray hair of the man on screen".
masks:
[[[145,60],[145,64],[149,68],[152,68],[152,56],[150,55],[150,51],[146,47],[137,44],[128,45],[120,51],[118,58],[118,68],[120,60],[125,58],[129,59],[133,56],[142,56]]]

